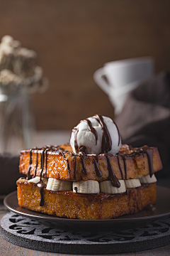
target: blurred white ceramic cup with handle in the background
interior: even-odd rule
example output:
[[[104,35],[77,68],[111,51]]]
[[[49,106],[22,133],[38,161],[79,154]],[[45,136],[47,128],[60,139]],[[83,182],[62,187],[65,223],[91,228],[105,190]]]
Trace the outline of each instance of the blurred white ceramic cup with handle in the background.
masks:
[[[128,94],[153,73],[152,57],[130,58],[105,63],[94,73],[94,81],[108,95],[115,114],[120,114]]]

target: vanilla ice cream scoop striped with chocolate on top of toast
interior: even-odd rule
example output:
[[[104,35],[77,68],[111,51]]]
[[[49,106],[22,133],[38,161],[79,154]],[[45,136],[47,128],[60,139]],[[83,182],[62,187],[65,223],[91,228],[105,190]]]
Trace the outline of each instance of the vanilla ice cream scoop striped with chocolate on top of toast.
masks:
[[[70,145],[74,153],[84,151],[86,154],[117,154],[121,139],[115,122],[109,117],[96,114],[81,120],[72,129]]]

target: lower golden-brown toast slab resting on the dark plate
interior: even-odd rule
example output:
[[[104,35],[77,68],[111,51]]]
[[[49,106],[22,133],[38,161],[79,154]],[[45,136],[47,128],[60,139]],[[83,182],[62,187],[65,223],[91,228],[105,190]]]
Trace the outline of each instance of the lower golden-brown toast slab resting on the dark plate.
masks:
[[[43,190],[44,205],[40,206],[38,186],[17,182],[18,204],[23,208],[59,217],[79,219],[109,219],[120,215],[137,213],[156,202],[156,183],[142,184],[122,194],[80,194],[72,191]]]

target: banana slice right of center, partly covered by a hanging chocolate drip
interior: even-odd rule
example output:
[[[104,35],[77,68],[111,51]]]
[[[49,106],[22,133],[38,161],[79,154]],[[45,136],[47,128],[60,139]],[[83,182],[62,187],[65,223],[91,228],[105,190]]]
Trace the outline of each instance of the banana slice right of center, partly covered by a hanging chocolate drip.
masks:
[[[100,183],[101,192],[104,193],[124,193],[126,191],[125,187],[125,181],[119,180],[120,182],[120,188],[116,188],[115,186],[112,186],[111,181],[102,181]]]

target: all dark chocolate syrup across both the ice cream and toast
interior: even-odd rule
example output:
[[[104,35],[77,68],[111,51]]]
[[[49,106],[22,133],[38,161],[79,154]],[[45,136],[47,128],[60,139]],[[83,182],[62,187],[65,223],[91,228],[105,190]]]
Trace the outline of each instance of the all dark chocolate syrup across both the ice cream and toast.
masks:
[[[108,180],[111,181],[113,186],[119,188],[120,187],[120,182],[118,181],[118,178],[115,176],[113,166],[111,164],[111,156],[113,156],[113,154],[108,153],[108,151],[111,150],[111,146],[112,146],[111,136],[108,132],[108,128],[107,128],[106,124],[103,122],[103,117],[100,114],[96,114],[94,116],[94,118],[96,118],[96,120],[99,122],[99,124],[101,124],[101,127],[103,129],[102,146],[101,146],[103,154],[99,154],[99,155],[93,154],[93,156],[94,156],[94,168],[95,168],[95,171],[96,171],[96,175],[98,177],[101,177],[103,175],[102,171],[100,170],[100,168],[98,166],[98,156],[100,156],[100,155],[105,156],[106,160],[107,160],[107,165],[108,165],[108,173],[109,173]],[[91,130],[91,132],[94,133],[94,136],[96,138],[96,143],[97,143],[98,137],[97,137],[96,130],[92,127],[92,124],[89,121],[89,119],[85,119],[85,121],[87,122],[88,127]],[[117,129],[118,129],[118,127],[117,127]],[[77,154],[74,154],[73,152],[70,152],[70,151],[64,151],[64,149],[62,149],[60,146],[51,146],[51,145],[43,146],[41,149],[38,149],[36,147],[33,148],[33,149],[30,149],[30,160],[29,160],[29,166],[28,166],[28,172],[27,172],[27,179],[32,178],[32,176],[30,176],[30,171],[33,167],[33,164],[32,164],[33,151],[36,151],[36,165],[35,165],[35,173],[34,173],[33,177],[36,176],[36,172],[37,172],[37,169],[38,169],[38,151],[40,151],[40,182],[38,183],[38,189],[40,191],[40,206],[43,206],[43,202],[44,202],[43,189],[46,187],[46,185],[44,183],[42,183],[42,176],[43,177],[47,176],[47,152],[48,151],[56,151],[56,154],[62,155],[63,159],[65,161],[67,161],[67,169],[69,171],[70,178],[71,178],[71,172],[70,172],[70,168],[69,168],[69,160],[65,157],[64,153],[71,154],[72,157],[74,157],[74,179],[75,180],[77,178],[77,174],[76,174],[77,155],[80,156],[82,171],[83,171],[84,175],[86,175],[86,176],[88,175],[88,172],[86,170],[86,165],[85,165],[85,162],[84,162],[84,159],[85,159],[86,154],[87,154],[86,146],[84,146],[84,145],[78,146],[78,144],[77,144],[77,134],[79,132],[79,129],[74,128],[72,130],[72,132],[74,132],[74,147],[77,151]],[[118,134],[119,134],[119,131],[118,131]],[[119,134],[118,145],[119,144],[120,144],[120,134]],[[118,154],[115,155],[117,157],[117,160],[118,160],[118,166],[119,166],[119,169],[120,169],[122,179],[124,179],[124,177],[123,177],[123,169],[120,166],[120,157],[123,159],[125,179],[127,179],[128,175],[127,175],[126,159],[129,156],[135,158],[135,156],[140,155],[140,154],[147,154],[147,159],[148,159],[148,164],[149,164],[149,175],[152,176],[154,174],[153,156],[152,156],[153,150],[149,146],[142,146],[140,149],[139,148],[135,149],[135,151],[132,151],[132,153],[130,153],[130,154],[125,152],[123,154],[118,153]],[[45,174],[43,174],[44,160],[45,160]]]

